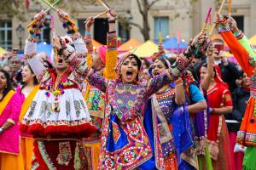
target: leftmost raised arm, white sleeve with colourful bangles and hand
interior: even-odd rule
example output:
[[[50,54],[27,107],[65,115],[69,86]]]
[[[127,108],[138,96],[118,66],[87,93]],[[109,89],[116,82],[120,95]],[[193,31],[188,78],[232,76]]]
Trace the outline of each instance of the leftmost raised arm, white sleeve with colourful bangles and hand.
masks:
[[[44,25],[44,17],[44,11],[35,15],[34,20],[37,20],[37,22],[29,28],[29,36],[26,39],[26,45],[24,48],[25,58],[39,82],[43,76],[44,70],[46,69],[44,67],[44,63],[37,55],[37,41],[40,33],[40,27]]]

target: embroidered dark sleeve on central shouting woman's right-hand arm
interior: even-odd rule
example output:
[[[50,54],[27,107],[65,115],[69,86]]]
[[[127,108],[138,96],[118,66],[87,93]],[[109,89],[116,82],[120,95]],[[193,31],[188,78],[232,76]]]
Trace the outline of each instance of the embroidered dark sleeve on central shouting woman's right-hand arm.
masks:
[[[156,76],[149,82],[147,94],[148,96],[157,92],[160,88],[164,85],[174,82],[179,77],[181,71],[189,66],[189,59],[186,57],[179,57],[177,61],[166,70],[165,73],[161,74],[160,76]]]

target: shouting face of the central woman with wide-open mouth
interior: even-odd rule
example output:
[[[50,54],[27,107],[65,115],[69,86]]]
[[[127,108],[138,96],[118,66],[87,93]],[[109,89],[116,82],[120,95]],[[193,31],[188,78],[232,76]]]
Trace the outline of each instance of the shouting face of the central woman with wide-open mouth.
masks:
[[[128,82],[128,83],[136,82],[138,71],[139,71],[139,65],[138,65],[137,59],[134,56],[127,57],[123,61],[120,69],[122,82]]]

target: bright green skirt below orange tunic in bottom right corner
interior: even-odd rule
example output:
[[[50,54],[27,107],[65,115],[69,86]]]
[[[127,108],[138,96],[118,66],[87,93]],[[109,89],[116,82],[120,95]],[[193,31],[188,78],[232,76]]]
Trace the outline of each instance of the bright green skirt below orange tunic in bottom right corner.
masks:
[[[256,169],[256,147],[247,146],[246,153],[242,162],[243,170],[255,170]]]

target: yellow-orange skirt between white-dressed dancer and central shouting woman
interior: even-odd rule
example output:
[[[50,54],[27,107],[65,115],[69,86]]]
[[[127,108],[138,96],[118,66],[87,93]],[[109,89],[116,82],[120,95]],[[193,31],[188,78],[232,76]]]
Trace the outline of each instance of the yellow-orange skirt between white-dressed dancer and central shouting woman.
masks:
[[[85,147],[91,148],[91,162],[93,169],[97,169],[101,152],[101,142],[94,144],[84,144]]]

